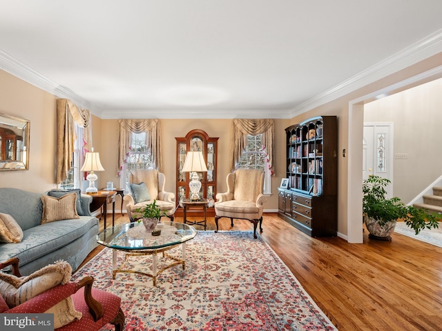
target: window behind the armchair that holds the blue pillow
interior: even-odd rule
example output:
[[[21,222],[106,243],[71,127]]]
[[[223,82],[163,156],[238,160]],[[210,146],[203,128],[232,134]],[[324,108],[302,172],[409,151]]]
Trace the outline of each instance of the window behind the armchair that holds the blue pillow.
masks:
[[[130,152],[126,154],[126,162],[123,165],[120,183],[124,190],[129,190],[129,179],[131,177],[131,170],[135,169],[154,169],[155,165],[152,161],[151,151],[146,146],[146,132],[132,133]]]

